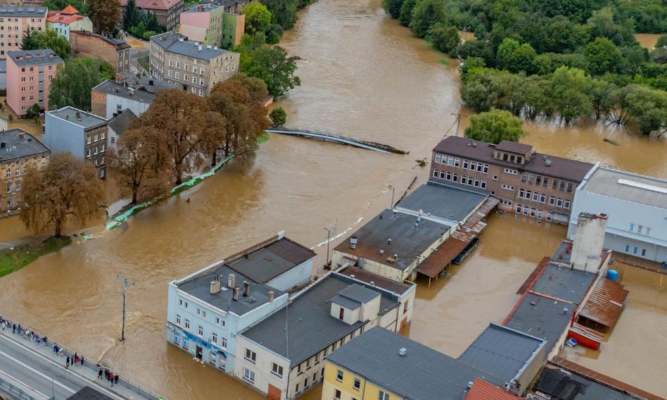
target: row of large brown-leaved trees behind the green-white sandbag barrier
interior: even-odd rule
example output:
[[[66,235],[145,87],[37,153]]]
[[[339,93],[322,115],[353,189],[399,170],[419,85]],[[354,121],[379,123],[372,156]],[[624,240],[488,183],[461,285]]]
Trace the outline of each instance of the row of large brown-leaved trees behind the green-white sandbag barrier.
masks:
[[[180,89],[160,91],[148,111],[130,125],[109,156],[122,189],[136,204],[164,194],[210,159],[251,157],[269,126],[262,80],[237,74],[208,99]]]

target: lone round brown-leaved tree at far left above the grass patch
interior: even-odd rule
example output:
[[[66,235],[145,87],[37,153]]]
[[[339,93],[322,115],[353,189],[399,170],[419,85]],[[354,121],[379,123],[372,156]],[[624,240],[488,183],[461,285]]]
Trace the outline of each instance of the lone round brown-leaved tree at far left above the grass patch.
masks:
[[[101,214],[102,185],[93,165],[70,153],[51,156],[46,170],[30,168],[23,179],[20,218],[30,230],[53,228],[61,237],[70,218],[84,224]]]

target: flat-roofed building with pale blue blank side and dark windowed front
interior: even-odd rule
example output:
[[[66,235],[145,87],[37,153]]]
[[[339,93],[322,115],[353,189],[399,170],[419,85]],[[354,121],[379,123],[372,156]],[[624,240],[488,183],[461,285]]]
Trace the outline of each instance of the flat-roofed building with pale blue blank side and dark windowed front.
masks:
[[[89,160],[106,178],[108,120],[74,107],[63,107],[46,113],[44,144],[53,154],[69,151],[77,158]]]

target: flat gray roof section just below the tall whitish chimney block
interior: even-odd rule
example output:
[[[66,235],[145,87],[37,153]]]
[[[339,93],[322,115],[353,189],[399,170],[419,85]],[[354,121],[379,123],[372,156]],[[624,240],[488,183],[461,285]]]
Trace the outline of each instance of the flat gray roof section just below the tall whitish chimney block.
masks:
[[[550,263],[533,285],[533,292],[580,304],[595,280],[594,273]]]

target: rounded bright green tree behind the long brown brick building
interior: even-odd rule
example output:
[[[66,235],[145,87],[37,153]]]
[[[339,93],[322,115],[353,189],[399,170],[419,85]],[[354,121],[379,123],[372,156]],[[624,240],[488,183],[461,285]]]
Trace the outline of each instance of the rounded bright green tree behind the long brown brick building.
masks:
[[[471,115],[470,126],[466,128],[466,137],[482,142],[498,144],[502,140],[519,142],[527,135],[521,127],[521,119],[507,111],[496,110]]]

